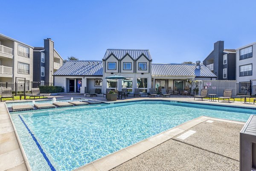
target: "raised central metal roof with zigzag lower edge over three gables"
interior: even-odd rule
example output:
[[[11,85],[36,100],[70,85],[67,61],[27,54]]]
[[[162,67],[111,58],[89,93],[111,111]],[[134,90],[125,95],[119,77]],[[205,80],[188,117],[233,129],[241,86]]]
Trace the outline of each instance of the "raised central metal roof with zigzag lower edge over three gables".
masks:
[[[140,49],[107,49],[103,60],[108,58],[108,56],[113,53],[118,59],[124,57],[127,53],[133,58],[134,60],[137,59],[141,54],[144,54],[149,60],[151,60],[151,55],[149,50],[140,50]]]

